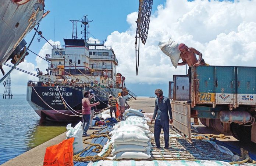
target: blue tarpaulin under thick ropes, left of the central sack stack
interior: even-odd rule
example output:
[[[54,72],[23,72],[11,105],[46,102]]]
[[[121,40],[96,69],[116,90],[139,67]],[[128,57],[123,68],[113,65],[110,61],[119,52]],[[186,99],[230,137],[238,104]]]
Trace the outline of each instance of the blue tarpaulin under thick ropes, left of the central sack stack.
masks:
[[[111,131],[111,127],[105,128],[100,133]],[[101,144],[104,146],[107,143],[107,140],[109,140],[107,137],[99,137],[99,138],[94,138],[92,139],[91,143],[95,144]],[[80,156],[85,157],[85,156],[95,156],[98,153],[93,152],[92,150],[95,148],[95,146],[91,147],[89,150],[83,152]],[[87,166],[89,162],[74,162],[74,166]]]

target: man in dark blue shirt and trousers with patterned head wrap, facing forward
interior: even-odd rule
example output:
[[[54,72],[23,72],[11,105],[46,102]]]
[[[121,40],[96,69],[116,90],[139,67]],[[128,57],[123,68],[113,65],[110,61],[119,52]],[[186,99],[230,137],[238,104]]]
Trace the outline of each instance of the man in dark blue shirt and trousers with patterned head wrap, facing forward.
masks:
[[[157,96],[153,118],[151,123],[156,118],[154,124],[154,139],[156,142],[156,148],[160,148],[160,133],[163,128],[164,131],[164,148],[169,148],[169,128],[170,124],[173,123],[173,116],[171,113],[171,102],[170,99],[163,96],[163,91],[161,89],[156,89],[155,94]],[[168,115],[170,114],[170,118]],[[157,116],[156,116],[157,115]]]

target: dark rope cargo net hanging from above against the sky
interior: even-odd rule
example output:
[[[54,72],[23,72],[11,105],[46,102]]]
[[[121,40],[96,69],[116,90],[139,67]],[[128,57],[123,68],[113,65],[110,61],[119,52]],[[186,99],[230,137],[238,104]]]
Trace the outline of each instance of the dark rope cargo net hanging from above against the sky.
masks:
[[[149,31],[149,22],[150,22],[152,4],[153,4],[153,0],[139,0],[139,14],[138,14],[138,19],[136,21],[137,29],[136,29],[136,36],[135,36],[136,75],[138,75],[138,69],[139,69],[139,43],[140,43],[140,39],[143,44],[146,43],[147,33]],[[138,50],[137,50],[137,45],[138,45]],[[138,60],[137,60],[137,52],[138,52]]]

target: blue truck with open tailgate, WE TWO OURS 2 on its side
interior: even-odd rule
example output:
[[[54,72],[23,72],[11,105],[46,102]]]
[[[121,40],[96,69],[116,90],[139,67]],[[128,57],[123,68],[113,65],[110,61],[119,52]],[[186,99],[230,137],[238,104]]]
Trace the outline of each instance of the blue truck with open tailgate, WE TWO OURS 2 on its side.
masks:
[[[191,142],[191,118],[238,140],[256,143],[256,67],[192,67],[169,82],[173,128]],[[191,103],[187,103],[191,99]]]

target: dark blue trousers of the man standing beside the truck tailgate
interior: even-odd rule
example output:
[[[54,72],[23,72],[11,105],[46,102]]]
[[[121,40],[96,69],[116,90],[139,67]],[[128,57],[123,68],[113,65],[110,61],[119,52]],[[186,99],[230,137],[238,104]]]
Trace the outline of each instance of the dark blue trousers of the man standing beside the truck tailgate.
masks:
[[[169,119],[159,120],[156,119],[154,124],[154,139],[156,142],[156,146],[160,147],[160,133],[161,129],[163,128],[164,131],[164,147],[169,147]]]

